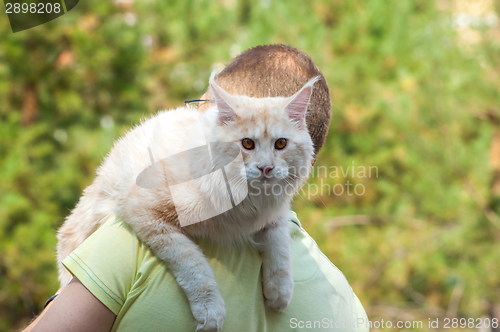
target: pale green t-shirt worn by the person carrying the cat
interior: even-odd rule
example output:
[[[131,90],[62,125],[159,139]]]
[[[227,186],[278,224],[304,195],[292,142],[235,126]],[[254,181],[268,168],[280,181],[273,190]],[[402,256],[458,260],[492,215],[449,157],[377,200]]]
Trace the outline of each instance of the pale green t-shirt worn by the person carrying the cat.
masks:
[[[223,331],[368,331],[366,314],[344,275],[290,222],[294,291],[284,313],[266,309],[259,252],[198,241],[226,304]],[[64,266],[116,314],[112,331],[195,331],[173,275],[124,222],[110,217]]]

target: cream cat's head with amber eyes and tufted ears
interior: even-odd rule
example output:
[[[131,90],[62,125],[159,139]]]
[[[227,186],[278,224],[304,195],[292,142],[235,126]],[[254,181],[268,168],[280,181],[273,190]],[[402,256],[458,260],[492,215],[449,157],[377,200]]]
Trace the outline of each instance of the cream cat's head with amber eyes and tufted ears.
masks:
[[[313,85],[320,77],[311,79],[291,97],[251,98],[230,95],[217,85],[214,76],[210,88],[216,106],[207,112],[214,123],[210,140],[239,146],[245,164],[243,176],[250,187],[298,188],[312,164],[313,142],[305,116]]]

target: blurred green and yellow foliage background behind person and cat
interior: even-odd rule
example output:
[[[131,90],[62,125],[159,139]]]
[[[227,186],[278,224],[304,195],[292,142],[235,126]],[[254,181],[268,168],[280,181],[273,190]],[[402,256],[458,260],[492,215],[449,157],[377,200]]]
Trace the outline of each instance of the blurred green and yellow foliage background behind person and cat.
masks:
[[[57,290],[55,230],[113,140],[268,43],[307,52],[330,86],[329,136],[295,208],[370,319],[495,315],[499,27],[476,24],[468,44],[453,22],[430,0],[87,0],[16,34],[0,14],[0,331]],[[358,176],[369,166],[378,176]]]

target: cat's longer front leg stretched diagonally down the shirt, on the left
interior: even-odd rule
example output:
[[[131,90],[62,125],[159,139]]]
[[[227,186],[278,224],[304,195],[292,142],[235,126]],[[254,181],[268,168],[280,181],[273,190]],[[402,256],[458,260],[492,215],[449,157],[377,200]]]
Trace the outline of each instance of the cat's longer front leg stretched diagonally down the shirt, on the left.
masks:
[[[212,268],[196,243],[161,220],[141,224],[135,231],[163,260],[186,294],[197,330],[219,331],[226,317],[224,300]]]

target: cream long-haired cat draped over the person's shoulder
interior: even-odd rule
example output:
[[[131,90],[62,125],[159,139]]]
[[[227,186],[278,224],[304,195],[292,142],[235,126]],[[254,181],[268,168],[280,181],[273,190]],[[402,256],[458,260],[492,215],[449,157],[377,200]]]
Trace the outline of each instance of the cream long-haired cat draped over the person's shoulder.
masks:
[[[293,195],[312,167],[305,116],[319,79],[311,79],[291,97],[250,98],[230,95],[212,73],[214,107],[204,113],[190,107],[159,112],[117,140],[58,231],[61,287],[71,279],[62,260],[115,214],[175,276],[197,329],[220,330],[226,311],[213,271],[191,240],[195,238],[256,245],[263,261],[265,304],[285,310],[293,293],[288,215]],[[210,158],[197,158],[196,149],[206,142]],[[236,154],[243,157],[243,167],[224,167],[233,207],[222,208],[228,181],[201,175],[231,164]],[[139,185],[141,174],[147,177]],[[189,177],[189,185],[176,187],[174,199],[172,183]],[[282,190],[269,190],[272,186]],[[209,206],[224,212],[203,220]]]

